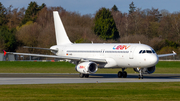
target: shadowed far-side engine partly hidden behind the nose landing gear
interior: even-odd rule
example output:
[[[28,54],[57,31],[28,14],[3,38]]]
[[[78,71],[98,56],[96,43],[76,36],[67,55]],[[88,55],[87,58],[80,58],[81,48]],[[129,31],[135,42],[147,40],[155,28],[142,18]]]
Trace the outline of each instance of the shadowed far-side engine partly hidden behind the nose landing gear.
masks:
[[[152,74],[156,70],[156,66],[148,67],[148,68],[143,68],[142,72],[143,74]],[[134,68],[135,72],[139,73],[139,68]]]

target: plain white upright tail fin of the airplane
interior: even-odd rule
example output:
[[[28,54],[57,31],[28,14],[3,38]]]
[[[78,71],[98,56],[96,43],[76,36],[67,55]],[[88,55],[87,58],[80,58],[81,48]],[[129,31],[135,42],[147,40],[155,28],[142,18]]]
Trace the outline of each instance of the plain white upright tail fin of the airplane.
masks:
[[[66,34],[66,31],[65,31],[64,26],[62,24],[59,13],[57,11],[53,11],[53,16],[54,16],[54,25],[55,25],[57,45],[72,44],[71,41],[69,40],[67,34]]]

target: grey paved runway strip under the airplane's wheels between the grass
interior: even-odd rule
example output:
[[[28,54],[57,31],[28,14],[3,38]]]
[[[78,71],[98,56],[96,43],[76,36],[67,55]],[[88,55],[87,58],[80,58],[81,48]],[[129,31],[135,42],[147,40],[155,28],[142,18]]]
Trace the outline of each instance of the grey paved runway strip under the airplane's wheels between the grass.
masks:
[[[138,79],[138,74],[128,74],[127,78],[118,78],[117,74],[91,74],[89,78],[79,78],[76,73],[0,73],[0,85],[116,82],[180,82],[180,74],[149,74]]]

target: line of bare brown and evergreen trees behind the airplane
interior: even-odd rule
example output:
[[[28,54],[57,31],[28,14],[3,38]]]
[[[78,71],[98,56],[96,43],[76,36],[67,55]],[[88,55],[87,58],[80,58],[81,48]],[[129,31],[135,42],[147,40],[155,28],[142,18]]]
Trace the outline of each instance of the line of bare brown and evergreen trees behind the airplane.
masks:
[[[132,2],[129,12],[116,5],[100,8],[96,14],[81,15],[62,7],[46,7],[30,2],[27,9],[5,8],[0,3],[0,50],[48,53],[22,46],[49,48],[56,44],[53,11],[58,11],[66,32],[75,43],[138,43],[150,45],[158,53],[178,52],[180,12],[140,9]],[[49,54],[49,53],[48,53]]]

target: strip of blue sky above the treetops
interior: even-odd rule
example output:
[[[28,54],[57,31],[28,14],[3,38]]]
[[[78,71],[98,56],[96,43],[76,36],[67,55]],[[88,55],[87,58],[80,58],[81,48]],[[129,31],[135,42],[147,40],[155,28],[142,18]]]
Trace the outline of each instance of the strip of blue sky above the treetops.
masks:
[[[116,5],[119,11],[128,13],[132,1],[135,7],[141,9],[153,7],[166,9],[170,13],[180,11],[180,0],[0,0],[5,7],[12,5],[14,8],[27,8],[31,1],[37,2],[38,5],[45,3],[47,7],[61,6],[67,11],[76,11],[82,15],[95,14],[99,8],[112,8],[113,5]]]

